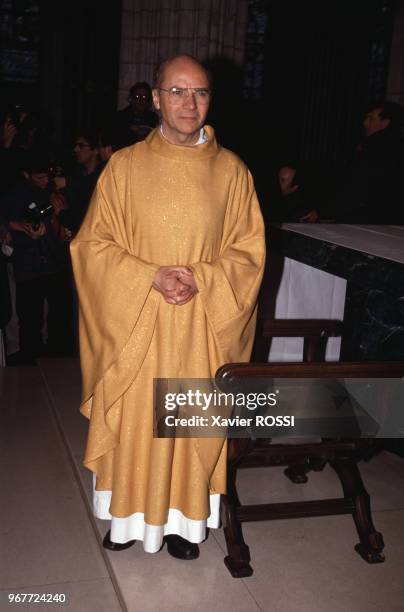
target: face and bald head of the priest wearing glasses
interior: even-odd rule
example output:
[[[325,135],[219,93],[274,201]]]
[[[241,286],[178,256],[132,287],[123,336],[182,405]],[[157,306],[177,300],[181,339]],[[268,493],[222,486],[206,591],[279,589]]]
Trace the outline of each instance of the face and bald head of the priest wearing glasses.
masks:
[[[209,89],[207,75],[192,60],[178,58],[165,69],[160,88],[153,89],[153,102],[160,110],[167,140],[179,145],[195,144],[199,130],[205,122],[209,104],[198,100],[190,90],[184,100],[173,100],[168,91],[162,91],[171,87]]]

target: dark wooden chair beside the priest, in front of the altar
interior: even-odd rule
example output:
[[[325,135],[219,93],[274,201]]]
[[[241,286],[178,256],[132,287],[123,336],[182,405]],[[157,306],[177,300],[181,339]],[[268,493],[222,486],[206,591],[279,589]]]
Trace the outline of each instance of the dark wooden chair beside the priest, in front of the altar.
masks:
[[[225,364],[218,370],[217,379],[240,382],[244,378],[401,378],[404,375],[401,362],[309,363],[309,359],[324,358],[326,339],[340,333],[339,322],[268,321],[261,323],[260,329],[264,338],[281,336],[282,331],[287,336],[302,336],[306,362]],[[263,342],[259,349],[264,350]],[[229,440],[227,494],[222,496],[221,517],[228,552],[224,562],[232,576],[240,578],[253,573],[242,532],[242,523],[247,521],[352,514],[360,540],[355,550],[369,563],[384,561],[383,537],[373,525],[369,495],[357,465],[371,453],[374,444],[374,440],[365,438],[321,438],[318,442],[296,444],[249,438]],[[341,498],[260,505],[243,505],[239,499],[236,485],[239,468],[285,465],[288,466],[285,473],[293,482],[305,482],[310,470],[322,470],[327,463],[340,479]]]

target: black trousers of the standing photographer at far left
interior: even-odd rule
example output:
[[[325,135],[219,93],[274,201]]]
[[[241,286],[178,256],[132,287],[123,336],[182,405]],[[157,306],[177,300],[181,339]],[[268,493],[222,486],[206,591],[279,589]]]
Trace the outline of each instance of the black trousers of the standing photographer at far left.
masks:
[[[46,351],[42,342],[44,303],[48,304]],[[29,357],[70,355],[73,349],[72,297],[66,272],[16,282],[20,351]]]

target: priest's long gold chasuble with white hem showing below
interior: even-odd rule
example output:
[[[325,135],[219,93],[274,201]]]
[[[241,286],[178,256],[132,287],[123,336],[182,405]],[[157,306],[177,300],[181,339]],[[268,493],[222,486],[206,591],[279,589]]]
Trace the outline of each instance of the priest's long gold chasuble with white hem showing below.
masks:
[[[265,259],[251,175],[205,133],[178,146],[157,128],[115,153],[71,244],[94,510],[111,519],[112,541],[146,544],[149,530],[149,552],[167,533],[202,541],[226,488],[222,438],[153,438],[153,379],[248,361]],[[170,265],[194,273],[199,293],[183,306],[152,288]]]

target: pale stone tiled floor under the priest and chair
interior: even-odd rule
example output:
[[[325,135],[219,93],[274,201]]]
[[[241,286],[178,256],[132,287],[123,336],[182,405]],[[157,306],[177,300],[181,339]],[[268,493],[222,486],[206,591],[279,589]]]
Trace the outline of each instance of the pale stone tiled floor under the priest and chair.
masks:
[[[7,593],[65,593],[74,611],[403,612],[404,460],[390,453],[361,464],[386,562],[354,552],[349,516],[249,523],[244,534],[254,574],[235,580],[223,565],[222,531],[211,531],[195,562],[140,544],[121,553],[101,546],[107,524],[91,516],[91,478],[81,467],[86,421],[75,360],[0,370],[0,610],[60,604],[7,603]],[[339,496],[330,469],[296,486],[282,469],[240,474],[251,503]]]

